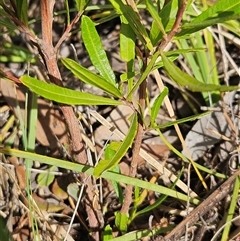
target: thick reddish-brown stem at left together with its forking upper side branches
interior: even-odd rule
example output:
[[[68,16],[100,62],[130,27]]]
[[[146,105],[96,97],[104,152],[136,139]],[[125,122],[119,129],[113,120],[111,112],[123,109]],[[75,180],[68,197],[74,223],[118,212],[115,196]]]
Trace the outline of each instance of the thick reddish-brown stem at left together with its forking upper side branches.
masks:
[[[48,71],[49,79],[52,83],[63,86],[61,74],[57,65],[57,52],[54,49],[52,44],[52,22],[53,22],[53,7],[55,4],[55,0],[41,0],[41,19],[42,19],[42,39],[36,37],[27,26],[25,26],[18,18],[16,14],[16,10],[10,9],[5,4],[1,4],[4,10],[9,14],[12,21],[18,26],[19,30],[28,35],[29,39],[37,46],[39,50],[39,54],[42,57],[42,60],[46,66]],[[76,23],[79,19],[77,16],[72,25]],[[70,31],[70,30],[69,30]],[[66,35],[65,35],[66,36]],[[64,41],[64,38],[61,38],[61,41]],[[59,42],[60,44],[61,42]],[[10,76],[11,77],[11,76]],[[72,143],[71,143],[71,154],[73,159],[76,159],[77,162],[81,164],[87,163],[87,155],[85,152],[84,142],[82,140],[80,126],[78,124],[78,119],[75,116],[73,108],[71,106],[60,105],[62,113],[65,117],[65,120],[68,125],[69,133],[71,135]],[[86,198],[85,198],[85,208],[88,215],[88,221],[90,229],[94,232],[92,233],[92,237],[94,240],[99,240],[100,235],[97,230],[101,226],[103,218],[101,215],[98,216],[95,213],[95,210],[92,207],[93,200],[93,190],[94,186],[91,178],[87,178],[87,175],[84,173],[80,173],[82,181],[86,184]],[[96,232],[95,232],[96,231]]]

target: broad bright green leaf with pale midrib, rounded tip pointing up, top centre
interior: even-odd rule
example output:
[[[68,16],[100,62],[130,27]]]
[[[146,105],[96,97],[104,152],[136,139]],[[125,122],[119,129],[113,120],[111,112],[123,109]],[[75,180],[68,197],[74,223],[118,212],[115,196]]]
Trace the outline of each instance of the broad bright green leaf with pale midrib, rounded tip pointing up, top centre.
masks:
[[[100,37],[95,29],[94,23],[89,17],[82,16],[81,29],[82,39],[93,65],[107,82],[117,86],[116,77],[109,64]]]

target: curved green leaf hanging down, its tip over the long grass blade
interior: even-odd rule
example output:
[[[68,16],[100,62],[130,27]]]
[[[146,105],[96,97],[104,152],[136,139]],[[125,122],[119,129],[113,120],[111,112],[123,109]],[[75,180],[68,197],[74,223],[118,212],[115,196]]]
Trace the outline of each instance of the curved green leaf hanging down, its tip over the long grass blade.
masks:
[[[119,148],[111,159],[102,159],[95,167],[93,175],[99,177],[104,171],[110,170],[117,165],[123,156],[126,154],[128,148],[132,145],[137,132],[137,114],[134,114],[131,126],[125,139],[119,144]]]

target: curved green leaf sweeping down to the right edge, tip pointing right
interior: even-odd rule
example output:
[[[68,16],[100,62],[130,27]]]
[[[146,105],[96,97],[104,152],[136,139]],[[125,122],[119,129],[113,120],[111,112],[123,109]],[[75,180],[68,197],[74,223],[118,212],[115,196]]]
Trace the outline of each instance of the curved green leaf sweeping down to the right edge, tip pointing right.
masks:
[[[184,73],[176,65],[174,65],[168,58],[161,53],[164,67],[173,81],[182,87],[185,87],[193,92],[203,92],[203,91],[232,91],[239,89],[239,86],[226,86],[226,85],[214,85],[205,84],[192,76]]]

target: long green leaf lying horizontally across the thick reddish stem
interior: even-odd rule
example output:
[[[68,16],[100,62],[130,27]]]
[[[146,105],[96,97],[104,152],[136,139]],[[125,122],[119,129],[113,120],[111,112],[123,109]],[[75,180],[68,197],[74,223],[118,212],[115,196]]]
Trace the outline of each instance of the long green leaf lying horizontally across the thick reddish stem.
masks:
[[[101,96],[70,90],[57,85],[48,84],[38,79],[22,76],[21,82],[34,93],[46,99],[68,105],[119,105],[120,101]]]

